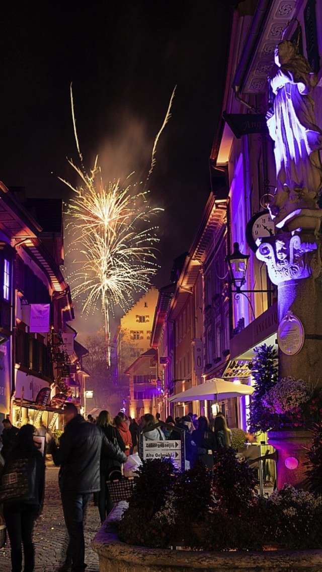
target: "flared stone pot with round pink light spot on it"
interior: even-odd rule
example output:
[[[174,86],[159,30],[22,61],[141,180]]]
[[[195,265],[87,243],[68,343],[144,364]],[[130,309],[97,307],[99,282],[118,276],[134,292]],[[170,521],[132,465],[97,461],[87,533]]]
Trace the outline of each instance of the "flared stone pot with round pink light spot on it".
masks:
[[[311,431],[268,431],[268,443],[278,451],[276,462],[277,489],[284,484],[305,488],[307,450],[312,443]]]

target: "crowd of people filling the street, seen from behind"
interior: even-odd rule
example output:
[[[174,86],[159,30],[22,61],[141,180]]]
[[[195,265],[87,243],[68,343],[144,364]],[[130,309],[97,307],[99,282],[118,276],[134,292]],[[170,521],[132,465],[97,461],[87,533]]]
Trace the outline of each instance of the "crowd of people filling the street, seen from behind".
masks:
[[[32,424],[18,430],[9,419],[2,423],[1,453],[5,467],[14,459],[35,459],[33,496],[28,501],[16,499],[3,504],[11,545],[12,572],[22,571],[23,554],[24,572],[33,572],[33,527],[43,504],[45,454],[39,451],[39,443],[34,439],[36,429]],[[203,415],[198,419],[192,414],[175,419],[168,416],[163,422],[159,414],[156,418],[145,414],[137,423],[122,411],[112,419],[107,410],[102,410],[96,419],[88,415],[85,420],[77,407],[68,403],[63,410],[63,424],[59,445],[46,435],[47,453],[60,467],[58,483],[69,534],[65,562],[57,568],[58,572],[83,572],[86,568],[83,521],[88,502],[94,495],[100,521],[104,522],[114,506],[107,482],[122,476],[122,466],[128,455],[138,451],[140,434],[143,440],[160,441],[178,439],[178,433],[181,433],[178,429],[184,431],[186,468],[192,467],[197,460],[212,468],[216,451],[229,447],[231,443],[231,431],[222,414],[216,415],[211,422]]]

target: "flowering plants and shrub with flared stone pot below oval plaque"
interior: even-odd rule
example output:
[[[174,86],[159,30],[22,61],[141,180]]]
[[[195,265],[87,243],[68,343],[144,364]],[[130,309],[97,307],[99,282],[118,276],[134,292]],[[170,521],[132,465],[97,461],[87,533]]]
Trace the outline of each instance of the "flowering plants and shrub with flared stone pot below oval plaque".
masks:
[[[277,487],[305,486],[305,447],[312,441],[309,429],[320,416],[322,390],[302,379],[278,379],[275,353],[265,344],[255,348],[249,367],[255,379],[250,431],[267,431],[269,444],[279,451]]]

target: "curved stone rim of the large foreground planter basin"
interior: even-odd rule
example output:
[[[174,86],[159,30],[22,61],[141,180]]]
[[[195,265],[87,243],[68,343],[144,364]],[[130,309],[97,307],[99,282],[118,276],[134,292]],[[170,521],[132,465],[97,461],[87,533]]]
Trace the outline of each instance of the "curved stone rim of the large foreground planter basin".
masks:
[[[316,572],[322,569],[322,550],[263,552],[203,552],[130,546],[120,542],[115,522],[126,503],[119,503],[100,527],[92,549],[100,572]],[[147,523],[148,524],[148,523]]]

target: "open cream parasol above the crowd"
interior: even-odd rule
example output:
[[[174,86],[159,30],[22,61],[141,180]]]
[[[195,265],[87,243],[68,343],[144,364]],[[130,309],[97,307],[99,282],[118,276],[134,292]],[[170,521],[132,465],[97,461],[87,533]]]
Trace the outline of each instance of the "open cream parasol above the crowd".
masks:
[[[230,399],[243,395],[252,395],[254,388],[243,383],[227,382],[225,379],[214,378],[209,382],[194,386],[187,391],[169,398],[170,402],[199,401],[201,399]]]

